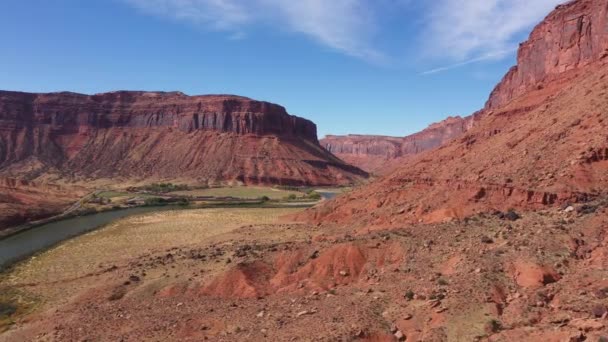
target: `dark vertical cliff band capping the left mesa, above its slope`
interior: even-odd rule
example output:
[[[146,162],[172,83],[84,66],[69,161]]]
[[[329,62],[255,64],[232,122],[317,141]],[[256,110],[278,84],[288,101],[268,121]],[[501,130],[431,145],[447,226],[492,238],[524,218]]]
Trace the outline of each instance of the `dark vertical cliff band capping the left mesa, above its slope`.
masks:
[[[0,91],[0,123],[37,125],[62,133],[91,128],[174,127],[184,132],[295,136],[317,142],[316,125],[284,107],[231,95],[119,91],[96,95]],[[0,127],[0,129],[2,129]]]

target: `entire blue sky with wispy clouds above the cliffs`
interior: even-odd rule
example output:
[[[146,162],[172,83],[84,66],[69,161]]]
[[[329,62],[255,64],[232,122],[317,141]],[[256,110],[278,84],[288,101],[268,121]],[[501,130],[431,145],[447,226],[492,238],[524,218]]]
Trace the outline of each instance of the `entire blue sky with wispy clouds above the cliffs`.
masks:
[[[559,0],[4,0],[0,89],[238,94],[319,135],[481,108]]]

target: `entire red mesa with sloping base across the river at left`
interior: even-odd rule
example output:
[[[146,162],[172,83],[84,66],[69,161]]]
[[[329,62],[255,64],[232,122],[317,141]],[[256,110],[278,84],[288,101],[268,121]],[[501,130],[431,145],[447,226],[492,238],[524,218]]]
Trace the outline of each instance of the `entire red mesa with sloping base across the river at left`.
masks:
[[[244,97],[0,92],[0,174],[336,185],[311,121]]]

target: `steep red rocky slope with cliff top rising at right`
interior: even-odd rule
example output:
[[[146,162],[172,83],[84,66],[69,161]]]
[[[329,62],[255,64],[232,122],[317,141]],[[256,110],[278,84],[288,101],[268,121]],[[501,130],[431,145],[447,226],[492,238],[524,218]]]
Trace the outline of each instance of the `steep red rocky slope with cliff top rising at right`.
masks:
[[[522,44],[518,66],[464,135],[305,216],[392,226],[607,196],[606,8],[605,0],[557,7]],[[578,45],[565,48],[571,36]]]

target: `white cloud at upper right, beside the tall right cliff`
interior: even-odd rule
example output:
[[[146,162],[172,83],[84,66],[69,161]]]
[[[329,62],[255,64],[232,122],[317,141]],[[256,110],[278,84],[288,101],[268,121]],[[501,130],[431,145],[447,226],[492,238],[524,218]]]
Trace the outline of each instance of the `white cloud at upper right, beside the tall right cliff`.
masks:
[[[563,2],[437,0],[429,9],[425,48],[433,56],[457,62],[480,61],[484,56],[499,55],[517,46],[522,33]]]

